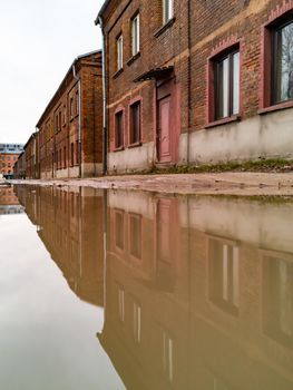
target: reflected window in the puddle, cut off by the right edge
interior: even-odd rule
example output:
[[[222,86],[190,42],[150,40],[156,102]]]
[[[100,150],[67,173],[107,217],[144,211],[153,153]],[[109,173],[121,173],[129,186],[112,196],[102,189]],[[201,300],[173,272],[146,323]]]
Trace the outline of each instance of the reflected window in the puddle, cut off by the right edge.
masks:
[[[293,348],[293,263],[264,260],[263,296],[265,333]]]

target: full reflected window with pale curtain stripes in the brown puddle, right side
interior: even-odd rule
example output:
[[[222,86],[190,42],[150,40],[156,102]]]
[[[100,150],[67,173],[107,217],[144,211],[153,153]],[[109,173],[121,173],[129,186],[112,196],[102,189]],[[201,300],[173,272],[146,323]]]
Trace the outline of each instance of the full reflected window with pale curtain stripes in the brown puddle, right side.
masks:
[[[209,242],[209,296],[226,312],[237,315],[240,305],[240,256],[238,247]]]

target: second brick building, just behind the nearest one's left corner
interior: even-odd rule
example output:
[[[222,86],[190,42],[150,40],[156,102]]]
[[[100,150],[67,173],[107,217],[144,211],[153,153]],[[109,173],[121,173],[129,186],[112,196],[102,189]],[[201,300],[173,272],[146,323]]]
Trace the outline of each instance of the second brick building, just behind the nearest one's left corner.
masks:
[[[101,96],[100,51],[79,56],[37,124],[40,178],[101,172]]]

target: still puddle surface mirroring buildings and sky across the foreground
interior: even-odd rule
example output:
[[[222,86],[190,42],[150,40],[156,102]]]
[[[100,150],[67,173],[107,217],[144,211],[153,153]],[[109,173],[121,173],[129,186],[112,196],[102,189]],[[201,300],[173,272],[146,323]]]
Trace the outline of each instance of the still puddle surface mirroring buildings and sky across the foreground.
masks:
[[[293,203],[14,193],[1,389],[293,389]]]

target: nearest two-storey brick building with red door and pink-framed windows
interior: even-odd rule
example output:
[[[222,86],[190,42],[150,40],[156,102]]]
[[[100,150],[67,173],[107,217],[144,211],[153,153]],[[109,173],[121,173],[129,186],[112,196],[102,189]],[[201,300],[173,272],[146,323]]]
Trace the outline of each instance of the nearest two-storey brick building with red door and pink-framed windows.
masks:
[[[107,0],[108,170],[292,158],[292,0]]]

